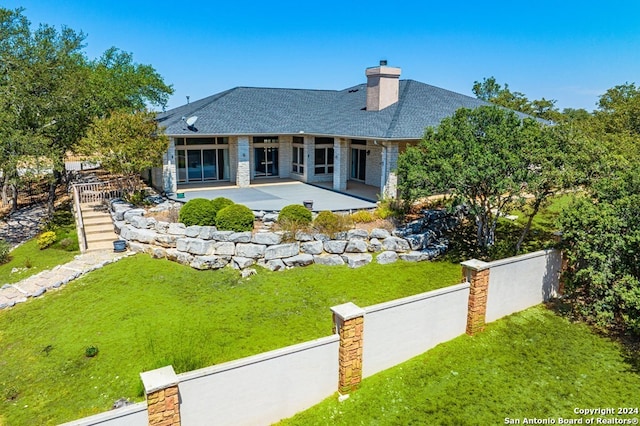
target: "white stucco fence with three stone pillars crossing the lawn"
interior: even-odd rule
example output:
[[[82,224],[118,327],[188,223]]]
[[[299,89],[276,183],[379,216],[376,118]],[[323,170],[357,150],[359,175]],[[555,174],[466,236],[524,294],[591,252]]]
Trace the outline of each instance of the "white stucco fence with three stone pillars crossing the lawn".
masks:
[[[487,321],[555,297],[561,255],[462,263],[461,284],[365,308],[331,308],[334,334],[200,370],[141,373],[146,401],[69,425],[267,425]],[[327,310],[329,314],[329,310]]]

